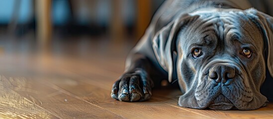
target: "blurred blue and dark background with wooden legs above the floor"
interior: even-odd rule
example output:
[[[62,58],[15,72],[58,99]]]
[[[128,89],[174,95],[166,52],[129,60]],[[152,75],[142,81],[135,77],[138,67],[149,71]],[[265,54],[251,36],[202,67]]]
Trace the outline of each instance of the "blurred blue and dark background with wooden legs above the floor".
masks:
[[[33,35],[33,42],[42,43],[77,36],[135,42],[163,1],[0,0],[0,35],[16,39]]]

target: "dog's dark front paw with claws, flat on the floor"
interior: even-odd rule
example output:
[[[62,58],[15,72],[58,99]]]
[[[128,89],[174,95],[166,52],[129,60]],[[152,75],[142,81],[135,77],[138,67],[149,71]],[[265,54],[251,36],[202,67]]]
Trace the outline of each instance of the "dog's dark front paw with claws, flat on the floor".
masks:
[[[147,72],[137,68],[120,76],[113,84],[111,97],[127,102],[145,101],[151,97],[153,86]]]

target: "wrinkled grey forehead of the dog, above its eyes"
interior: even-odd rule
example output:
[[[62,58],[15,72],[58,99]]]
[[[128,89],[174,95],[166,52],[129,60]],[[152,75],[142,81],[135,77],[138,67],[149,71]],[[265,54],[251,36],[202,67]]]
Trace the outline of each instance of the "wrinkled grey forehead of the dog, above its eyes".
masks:
[[[251,29],[252,24],[247,20],[245,21],[246,18],[238,17],[244,15],[244,13],[242,12],[241,15],[231,13],[235,15],[206,14],[207,17],[201,16],[194,23],[187,25],[187,29],[183,29],[183,39],[188,39],[182,45],[183,51],[185,53],[190,52],[189,49],[194,45],[210,48],[215,45],[217,48],[213,49],[220,54],[224,54],[225,52],[232,52],[227,50],[230,47],[226,47],[225,44],[235,45],[238,41],[241,44],[254,43],[255,38],[251,37],[253,33],[249,31],[255,31],[256,29]],[[252,45],[255,46],[255,44]]]

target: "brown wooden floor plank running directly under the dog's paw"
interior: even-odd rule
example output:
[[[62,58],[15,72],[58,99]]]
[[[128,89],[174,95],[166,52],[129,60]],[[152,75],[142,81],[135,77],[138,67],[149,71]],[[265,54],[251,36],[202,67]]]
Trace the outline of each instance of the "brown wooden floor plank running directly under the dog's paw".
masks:
[[[96,84],[88,84],[82,82],[83,77],[78,76],[78,78],[69,79],[77,82],[77,85],[64,84],[60,82],[65,82],[65,79],[59,79],[62,81],[54,81],[57,79],[52,79],[50,82],[54,83],[56,90],[60,90],[68,93],[69,95],[74,95],[76,97],[82,98],[94,105],[97,105],[103,109],[114,112],[115,114],[122,115],[125,118],[148,118],[148,119],[163,119],[163,118],[175,118],[180,119],[185,118],[204,118],[205,116],[196,115],[194,113],[180,110],[177,107],[166,105],[161,101],[156,99],[151,99],[145,102],[120,102],[110,98],[110,90],[98,87]],[[75,80],[77,79],[77,81]],[[72,81],[73,82],[73,81]],[[168,114],[168,115],[167,115]]]

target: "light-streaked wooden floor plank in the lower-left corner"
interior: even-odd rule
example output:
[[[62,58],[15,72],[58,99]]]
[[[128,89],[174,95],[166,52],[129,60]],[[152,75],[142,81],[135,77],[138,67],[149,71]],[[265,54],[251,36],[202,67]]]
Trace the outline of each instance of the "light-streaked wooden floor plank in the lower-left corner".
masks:
[[[9,79],[14,82],[13,79]],[[58,119],[49,111],[19,95],[12,89],[35,93],[34,90],[13,87],[6,77],[0,76],[0,118],[10,119]],[[18,80],[22,81],[22,80]],[[17,82],[20,83],[20,82]]]

